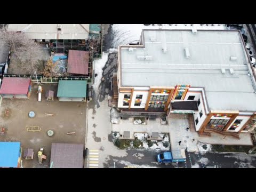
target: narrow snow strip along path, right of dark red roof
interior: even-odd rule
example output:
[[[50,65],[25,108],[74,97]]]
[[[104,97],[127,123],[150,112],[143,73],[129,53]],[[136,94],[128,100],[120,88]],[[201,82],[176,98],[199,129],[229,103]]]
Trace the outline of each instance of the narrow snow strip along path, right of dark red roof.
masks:
[[[98,76],[97,77],[94,76],[93,89],[97,94],[96,95],[97,97],[99,94],[99,86],[102,78],[102,68],[106,65],[106,62],[108,61],[108,55],[109,53],[103,52],[101,59],[94,60],[94,75],[97,74]]]

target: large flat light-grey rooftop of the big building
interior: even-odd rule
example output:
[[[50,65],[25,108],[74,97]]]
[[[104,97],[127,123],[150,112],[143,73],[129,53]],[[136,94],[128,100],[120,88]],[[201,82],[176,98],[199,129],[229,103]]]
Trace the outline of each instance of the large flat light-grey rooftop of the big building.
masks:
[[[239,31],[144,30],[143,44],[121,48],[121,86],[189,84],[205,87],[211,110],[256,110]]]

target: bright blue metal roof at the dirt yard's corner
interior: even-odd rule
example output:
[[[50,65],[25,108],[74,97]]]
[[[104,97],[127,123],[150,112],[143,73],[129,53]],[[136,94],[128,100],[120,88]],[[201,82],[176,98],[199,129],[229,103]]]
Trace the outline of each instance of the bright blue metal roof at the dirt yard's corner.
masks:
[[[0,167],[17,167],[20,142],[0,142]]]

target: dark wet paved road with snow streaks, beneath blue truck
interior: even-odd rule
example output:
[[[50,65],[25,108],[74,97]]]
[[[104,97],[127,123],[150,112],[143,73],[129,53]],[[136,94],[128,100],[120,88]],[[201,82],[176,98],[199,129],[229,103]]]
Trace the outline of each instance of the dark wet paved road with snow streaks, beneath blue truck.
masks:
[[[127,156],[113,157],[104,167],[116,168],[207,168],[215,165],[220,168],[254,168],[256,167],[256,157],[246,154],[220,154],[206,153],[196,154],[187,153],[186,163],[159,164],[156,162],[157,151],[127,150]]]

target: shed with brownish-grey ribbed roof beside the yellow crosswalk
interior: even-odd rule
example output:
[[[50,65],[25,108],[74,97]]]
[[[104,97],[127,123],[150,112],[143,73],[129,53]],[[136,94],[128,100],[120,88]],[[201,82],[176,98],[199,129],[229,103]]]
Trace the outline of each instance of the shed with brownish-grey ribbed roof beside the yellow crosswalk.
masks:
[[[52,168],[83,168],[84,145],[74,143],[52,143]]]

